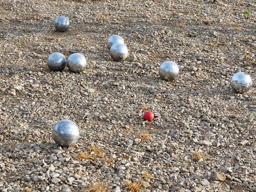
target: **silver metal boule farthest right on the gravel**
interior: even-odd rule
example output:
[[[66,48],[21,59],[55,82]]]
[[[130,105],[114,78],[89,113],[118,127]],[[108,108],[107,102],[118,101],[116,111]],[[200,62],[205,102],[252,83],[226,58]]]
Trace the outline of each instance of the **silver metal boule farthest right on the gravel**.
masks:
[[[230,86],[235,92],[246,92],[252,86],[252,78],[247,73],[238,72],[232,76]]]

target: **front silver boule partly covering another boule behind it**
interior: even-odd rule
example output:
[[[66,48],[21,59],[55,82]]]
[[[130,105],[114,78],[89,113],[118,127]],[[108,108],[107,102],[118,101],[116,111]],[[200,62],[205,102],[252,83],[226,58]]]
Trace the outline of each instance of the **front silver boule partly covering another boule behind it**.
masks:
[[[128,48],[125,44],[115,43],[110,47],[110,56],[113,60],[121,61],[128,57]]]

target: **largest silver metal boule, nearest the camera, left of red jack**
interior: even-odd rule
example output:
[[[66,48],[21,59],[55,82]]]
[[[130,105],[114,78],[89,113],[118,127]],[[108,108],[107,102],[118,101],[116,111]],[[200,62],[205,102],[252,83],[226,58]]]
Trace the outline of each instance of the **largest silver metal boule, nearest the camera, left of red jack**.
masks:
[[[52,129],[52,139],[60,146],[74,145],[79,139],[80,131],[74,121],[63,119]]]

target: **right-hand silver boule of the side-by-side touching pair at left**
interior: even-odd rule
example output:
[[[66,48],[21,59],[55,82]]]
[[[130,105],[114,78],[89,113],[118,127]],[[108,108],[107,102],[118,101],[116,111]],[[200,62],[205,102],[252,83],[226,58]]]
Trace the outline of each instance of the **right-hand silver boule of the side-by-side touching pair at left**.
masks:
[[[87,60],[81,53],[73,53],[67,59],[68,69],[72,72],[82,72],[87,66]]]

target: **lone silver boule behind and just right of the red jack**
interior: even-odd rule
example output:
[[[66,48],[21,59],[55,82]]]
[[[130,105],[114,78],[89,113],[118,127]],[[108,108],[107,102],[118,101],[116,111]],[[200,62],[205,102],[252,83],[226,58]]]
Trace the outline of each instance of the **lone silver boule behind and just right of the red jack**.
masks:
[[[179,66],[173,61],[165,61],[159,67],[159,75],[165,81],[175,80],[179,75]]]

